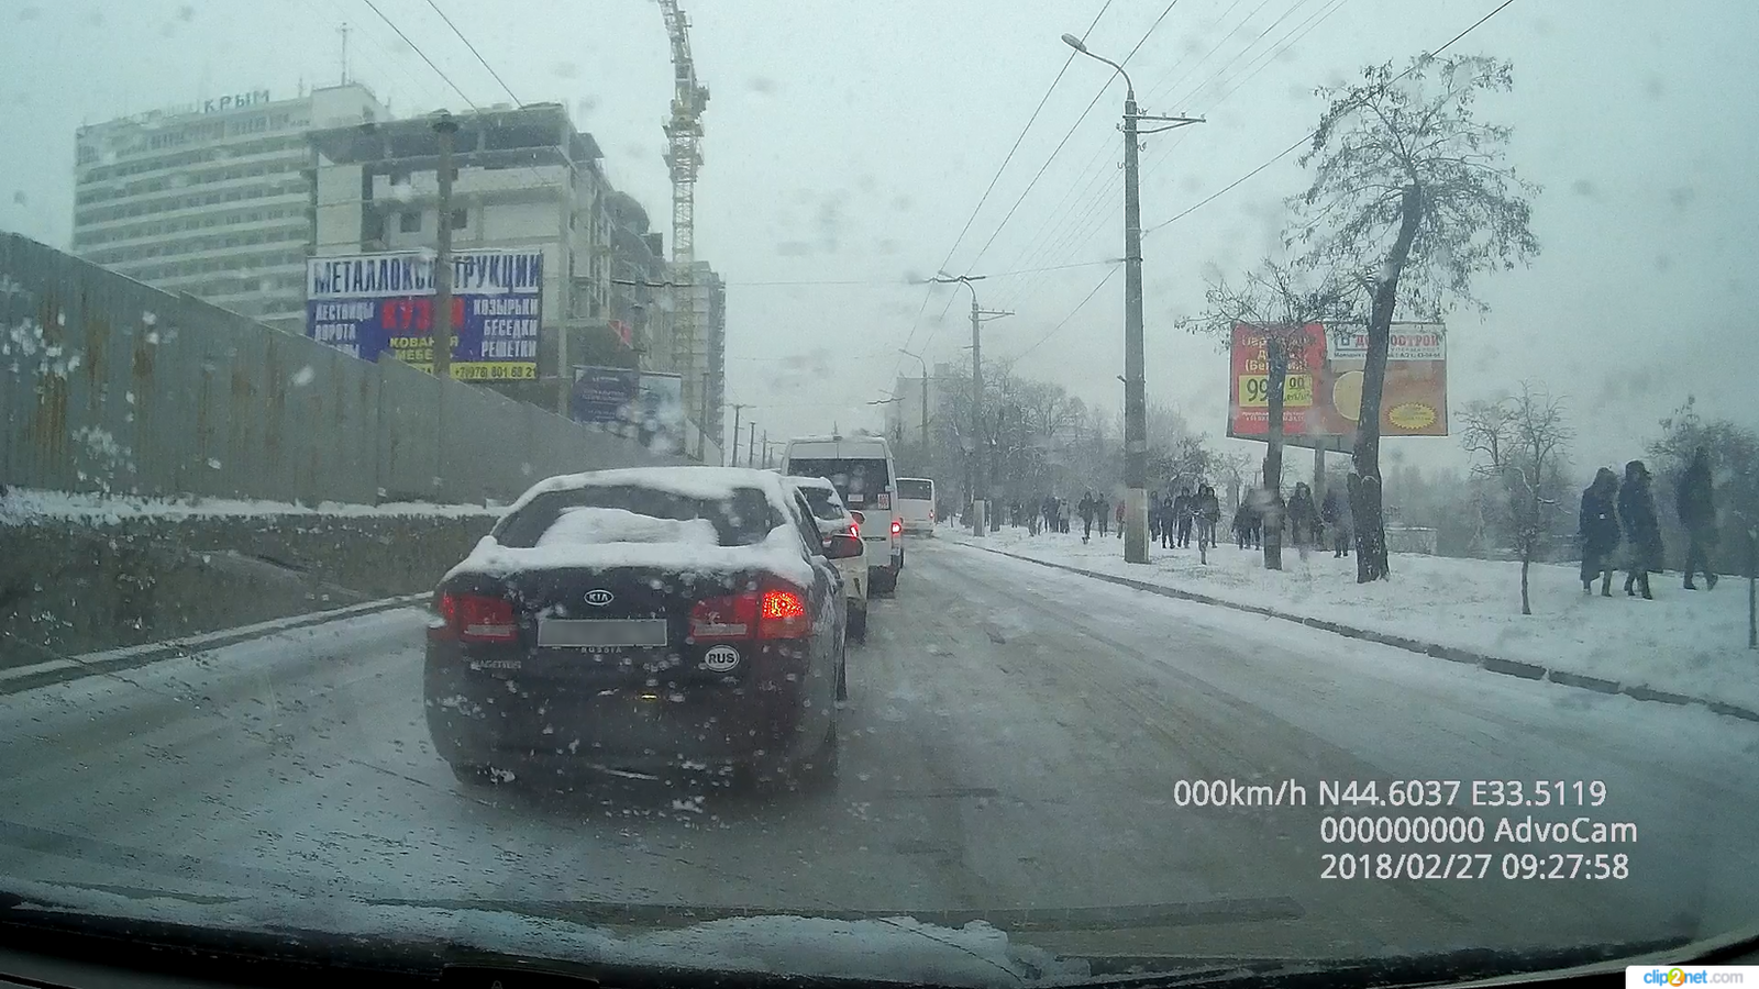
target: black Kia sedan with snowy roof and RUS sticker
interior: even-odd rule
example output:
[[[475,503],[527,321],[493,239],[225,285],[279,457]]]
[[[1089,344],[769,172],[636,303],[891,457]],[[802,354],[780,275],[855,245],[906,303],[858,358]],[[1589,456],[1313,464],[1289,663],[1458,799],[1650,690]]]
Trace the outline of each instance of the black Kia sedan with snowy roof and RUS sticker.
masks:
[[[434,591],[424,693],[459,780],[691,769],[821,785],[844,607],[809,507],[765,470],[551,477]]]

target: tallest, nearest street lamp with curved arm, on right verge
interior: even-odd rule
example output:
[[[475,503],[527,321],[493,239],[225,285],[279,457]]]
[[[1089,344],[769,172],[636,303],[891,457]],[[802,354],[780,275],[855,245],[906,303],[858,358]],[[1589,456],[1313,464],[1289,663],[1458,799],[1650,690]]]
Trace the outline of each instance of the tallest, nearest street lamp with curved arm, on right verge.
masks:
[[[1147,130],[1159,134],[1187,123],[1186,116],[1136,113],[1136,84],[1124,67],[1087,49],[1082,39],[1066,33],[1062,42],[1075,51],[1105,62],[1124,77],[1124,561],[1149,561],[1149,399],[1142,357],[1142,201],[1136,185],[1136,121],[1166,121]]]

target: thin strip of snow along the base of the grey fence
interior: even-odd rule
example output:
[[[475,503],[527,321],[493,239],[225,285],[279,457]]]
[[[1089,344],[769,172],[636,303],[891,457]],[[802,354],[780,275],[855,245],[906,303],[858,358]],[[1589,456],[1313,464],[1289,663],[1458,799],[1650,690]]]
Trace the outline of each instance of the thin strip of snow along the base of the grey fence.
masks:
[[[501,505],[436,505],[431,502],[398,502],[385,505],[343,505],[320,502],[315,507],[292,502],[260,502],[253,498],[135,498],[128,494],[97,494],[70,491],[42,491],[35,487],[7,487],[0,496],[0,524],[19,524],[32,519],[79,519],[93,524],[123,519],[188,519],[213,516],[500,516]]]

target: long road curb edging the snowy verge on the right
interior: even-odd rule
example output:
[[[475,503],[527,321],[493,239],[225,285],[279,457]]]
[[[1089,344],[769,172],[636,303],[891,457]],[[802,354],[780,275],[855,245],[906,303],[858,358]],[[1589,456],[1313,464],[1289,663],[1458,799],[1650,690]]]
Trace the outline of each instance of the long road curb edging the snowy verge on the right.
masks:
[[[1108,584],[1119,584],[1122,588],[1131,588],[1138,591],[1147,591],[1150,595],[1161,595],[1164,598],[1187,600],[1194,604],[1210,604],[1217,607],[1226,607],[1233,611],[1244,611],[1247,614],[1261,614],[1265,618],[1279,618],[1282,621],[1293,621],[1296,625],[1305,625],[1309,628],[1317,628],[1321,632],[1332,632],[1335,635],[1344,635],[1347,639],[1361,639],[1365,642],[1379,642],[1383,646],[1393,646],[1395,649],[1407,649],[1411,653],[1420,653],[1425,656],[1435,656],[1439,660],[1448,660],[1453,663],[1467,663],[1479,667],[1486,672],[1513,676],[1518,679],[1536,679],[1551,681],[1558,686],[1574,686],[1581,690],[1592,690],[1595,693],[1622,693],[1632,700],[1650,700],[1655,704],[1673,704],[1673,706],[1701,706],[1708,707],[1712,713],[1727,714],[1729,718],[1741,718],[1743,722],[1759,723],[1759,711],[1752,707],[1743,707],[1740,704],[1729,704],[1726,700],[1712,700],[1708,697],[1692,697],[1689,693],[1675,693],[1671,690],[1655,690],[1653,686],[1645,686],[1641,683],[1618,683],[1611,679],[1601,679],[1597,676],[1587,676],[1580,672],[1557,670],[1539,663],[1527,663],[1520,660],[1504,660],[1500,656],[1486,656],[1483,653],[1474,653],[1471,649],[1460,649],[1458,646],[1444,646],[1441,642],[1423,642],[1418,639],[1409,639],[1405,635],[1393,635],[1388,632],[1376,632],[1372,628],[1356,628],[1353,625],[1344,625],[1340,621],[1328,621],[1323,618],[1309,618],[1302,614],[1291,614],[1286,611],[1275,611],[1272,607],[1256,604],[1230,602],[1210,595],[1201,595],[1196,591],[1182,591],[1179,588],[1168,588],[1163,584],[1150,584],[1149,581],[1138,581],[1135,577],[1119,577],[1113,574],[1101,574],[1099,570],[1087,570],[1085,567],[1071,567],[1069,563],[1052,563],[1048,560],[1036,560],[1033,556],[1022,556],[1018,553],[1008,553],[1006,549],[994,549],[989,546],[978,546],[974,542],[952,540],[953,546],[966,546],[971,549],[982,549],[983,553],[994,553],[997,556],[1008,556],[1010,560],[1020,560],[1025,563],[1038,563],[1040,567],[1050,567],[1052,570],[1068,570],[1069,574],[1080,574],[1082,577],[1092,577],[1096,581],[1105,581]]]

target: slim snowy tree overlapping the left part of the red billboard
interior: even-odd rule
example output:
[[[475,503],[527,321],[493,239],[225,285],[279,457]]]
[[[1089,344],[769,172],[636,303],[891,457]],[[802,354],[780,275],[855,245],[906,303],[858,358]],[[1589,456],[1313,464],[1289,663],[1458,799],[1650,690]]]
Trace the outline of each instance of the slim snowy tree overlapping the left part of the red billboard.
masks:
[[[1265,517],[1265,568],[1282,568],[1282,408],[1289,371],[1317,373],[1317,368],[1293,366],[1300,361],[1309,326],[1328,320],[1360,319],[1354,278],[1312,275],[1312,267],[1265,259],[1238,283],[1223,276],[1205,282],[1203,311],[1179,320],[1187,333],[1230,345],[1235,327],[1251,327],[1265,340],[1266,414],[1263,496],[1272,505]]]

